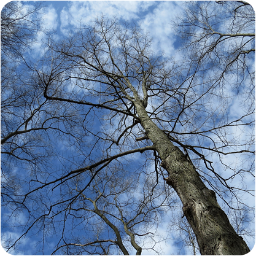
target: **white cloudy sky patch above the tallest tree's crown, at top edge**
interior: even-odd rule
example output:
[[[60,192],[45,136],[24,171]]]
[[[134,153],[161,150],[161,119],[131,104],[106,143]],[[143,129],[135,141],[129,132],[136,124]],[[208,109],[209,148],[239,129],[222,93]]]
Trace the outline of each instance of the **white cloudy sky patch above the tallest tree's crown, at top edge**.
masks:
[[[149,31],[155,52],[173,55],[175,39],[171,20],[182,10],[176,1],[71,1],[61,10],[61,32],[67,36],[80,22],[88,24],[99,15],[122,18],[136,21],[144,31]]]

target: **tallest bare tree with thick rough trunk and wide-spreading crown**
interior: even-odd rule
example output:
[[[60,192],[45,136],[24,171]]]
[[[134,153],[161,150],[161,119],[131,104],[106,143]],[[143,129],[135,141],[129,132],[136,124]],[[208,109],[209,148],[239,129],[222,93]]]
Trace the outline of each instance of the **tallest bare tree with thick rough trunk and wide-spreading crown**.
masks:
[[[215,66],[200,49],[181,64],[156,56],[139,27],[104,17],[63,41],[49,37],[46,45],[40,61],[25,63],[26,77],[6,79],[27,88],[4,101],[9,108],[20,103],[23,115],[2,117],[2,202],[16,214],[26,212],[23,234],[7,248],[37,227],[43,247],[61,230],[53,253],[109,254],[115,247],[128,254],[131,245],[139,255],[146,238],[154,239],[152,220],[175,202],[175,190],[201,254],[248,253],[215,195],[242,208],[239,193],[251,193],[242,182],[231,185],[234,178],[253,176],[255,153],[247,129],[253,124],[252,88],[244,89],[241,115],[229,114],[239,95],[231,95],[223,79],[236,75],[232,65]],[[242,141],[231,136],[233,128],[243,129]],[[227,155],[242,155],[239,165],[227,165]],[[20,174],[9,171],[15,161]],[[227,177],[220,166],[233,173]],[[160,180],[166,171],[168,186]],[[75,227],[95,236],[88,241],[74,234]]]

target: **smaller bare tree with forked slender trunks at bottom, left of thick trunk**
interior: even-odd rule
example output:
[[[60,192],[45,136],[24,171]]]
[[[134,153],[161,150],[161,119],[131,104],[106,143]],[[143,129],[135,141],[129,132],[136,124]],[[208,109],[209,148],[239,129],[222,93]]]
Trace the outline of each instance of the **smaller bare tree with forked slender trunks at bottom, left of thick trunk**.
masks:
[[[130,179],[125,176],[126,171],[120,166],[106,168],[103,175],[96,176],[93,180],[90,188],[91,198],[81,192],[84,185],[83,176],[74,179],[72,187],[76,187],[74,192],[79,193],[80,198],[68,209],[69,214],[81,219],[85,227],[90,226],[95,235],[92,235],[90,230],[88,236],[82,238],[80,234],[77,235],[76,228],[63,230],[61,239],[64,244],[58,246],[53,254],[62,250],[65,255],[68,252],[76,255],[130,255],[128,250],[134,250],[136,255],[141,255],[142,247],[139,244],[144,244],[144,240],[150,240],[151,245],[143,249],[154,250],[156,242],[153,238],[156,235],[154,231],[157,230],[157,219],[163,215],[163,208],[169,208],[165,202],[168,196],[165,190],[161,190],[160,186],[157,187],[155,182],[149,180],[149,176],[145,176],[143,194],[141,189],[138,189],[140,174],[135,174]],[[139,197],[139,200],[136,197]],[[66,237],[67,231],[72,233],[72,237],[70,234]]]

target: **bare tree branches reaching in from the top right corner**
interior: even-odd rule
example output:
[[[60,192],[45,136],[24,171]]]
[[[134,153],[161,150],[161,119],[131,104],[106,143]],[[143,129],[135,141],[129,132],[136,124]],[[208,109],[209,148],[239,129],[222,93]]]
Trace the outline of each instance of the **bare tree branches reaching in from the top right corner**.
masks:
[[[214,69],[216,82],[228,83],[235,74],[233,88],[242,90],[239,85],[246,80],[250,86],[243,93],[253,93],[255,11],[248,2],[191,1],[174,24],[188,59]]]

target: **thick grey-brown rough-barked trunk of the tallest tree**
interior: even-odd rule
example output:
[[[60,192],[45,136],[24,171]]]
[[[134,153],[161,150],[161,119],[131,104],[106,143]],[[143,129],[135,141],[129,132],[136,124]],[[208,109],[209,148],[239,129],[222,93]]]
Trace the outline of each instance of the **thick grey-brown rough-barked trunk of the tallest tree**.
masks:
[[[217,203],[215,192],[209,190],[187,160],[163,131],[147,115],[140,99],[134,102],[141,125],[155,145],[168,171],[167,184],[176,190],[183,212],[196,235],[201,255],[245,255],[249,247],[231,226],[227,215]]]

